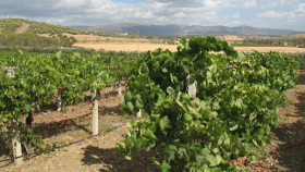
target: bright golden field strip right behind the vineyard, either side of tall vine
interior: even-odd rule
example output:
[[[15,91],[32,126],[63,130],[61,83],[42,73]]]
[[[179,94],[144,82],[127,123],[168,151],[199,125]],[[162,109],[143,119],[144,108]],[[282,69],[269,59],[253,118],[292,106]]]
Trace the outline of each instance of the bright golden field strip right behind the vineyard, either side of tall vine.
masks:
[[[137,51],[137,45],[124,45],[124,44],[75,44],[74,46],[93,48],[93,49],[105,49],[113,51]],[[155,50],[158,48],[169,49],[170,51],[176,51],[176,45],[152,45],[152,44],[139,44],[139,51]],[[237,51],[249,52],[252,50],[257,50],[260,52],[268,51],[280,51],[280,52],[305,52],[305,48],[296,47],[234,47]]]

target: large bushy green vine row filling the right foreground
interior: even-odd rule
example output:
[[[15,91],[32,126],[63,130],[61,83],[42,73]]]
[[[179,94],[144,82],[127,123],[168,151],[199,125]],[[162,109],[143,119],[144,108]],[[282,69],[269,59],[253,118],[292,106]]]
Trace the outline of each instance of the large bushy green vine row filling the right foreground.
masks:
[[[131,69],[122,109],[149,115],[127,125],[118,155],[134,159],[141,149],[160,146],[160,159],[151,158],[160,171],[234,171],[230,160],[254,162],[256,148],[270,144],[270,128],[279,126],[282,90],[297,81],[300,63],[278,52],[237,53],[215,37],[180,42],[178,52],[148,51]],[[194,81],[196,98],[187,94]]]

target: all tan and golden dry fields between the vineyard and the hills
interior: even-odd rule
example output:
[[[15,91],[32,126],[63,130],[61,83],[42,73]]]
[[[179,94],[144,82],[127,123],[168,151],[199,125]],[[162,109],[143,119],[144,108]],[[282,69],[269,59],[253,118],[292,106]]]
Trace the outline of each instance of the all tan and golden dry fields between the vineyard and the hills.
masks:
[[[50,37],[48,34],[38,34],[39,36]],[[84,47],[93,49],[105,49],[113,51],[137,51],[137,38],[122,38],[122,37],[103,37],[95,35],[72,35],[62,34],[68,37],[73,36],[78,42],[74,44],[74,47]],[[237,36],[224,36],[227,41],[242,41],[244,38]],[[98,41],[97,41],[98,40]],[[155,50],[158,48],[169,49],[170,51],[176,51],[178,45],[164,45],[156,44],[156,41],[149,39],[139,38],[139,51]],[[87,41],[87,42],[84,42]],[[296,47],[234,47],[235,50],[252,52],[257,50],[259,52],[279,51],[279,52],[305,52],[305,48]]]

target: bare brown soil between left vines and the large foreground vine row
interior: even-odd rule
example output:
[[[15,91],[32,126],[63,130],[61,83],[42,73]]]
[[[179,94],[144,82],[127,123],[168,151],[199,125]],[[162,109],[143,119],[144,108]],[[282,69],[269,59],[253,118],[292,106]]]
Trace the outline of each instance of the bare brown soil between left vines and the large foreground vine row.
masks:
[[[0,138],[0,171],[157,171],[158,167],[149,160],[157,151],[141,151],[137,156],[141,161],[131,162],[120,159],[113,149],[117,142],[126,137],[126,122],[134,119],[125,118],[121,112],[123,100],[117,89],[112,91],[107,87],[101,90],[105,97],[99,101],[100,135],[86,139],[91,136],[93,105],[89,101],[90,93],[86,91],[85,95],[85,101],[68,106],[65,114],[54,110],[34,114],[33,131],[36,134],[46,143],[63,142],[72,144],[70,147],[57,148],[49,155],[25,157],[22,165],[15,165],[12,161],[2,161],[9,158],[9,150],[5,148],[8,140]],[[23,153],[26,155],[25,151]]]

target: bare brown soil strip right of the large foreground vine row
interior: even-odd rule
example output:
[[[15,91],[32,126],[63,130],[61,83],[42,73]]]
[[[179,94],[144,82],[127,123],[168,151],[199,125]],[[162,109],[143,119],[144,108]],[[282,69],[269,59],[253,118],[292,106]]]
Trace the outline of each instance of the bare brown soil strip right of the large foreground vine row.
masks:
[[[298,70],[300,83],[284,90],[289,102],[280,109],[280,126],[273,130],[272,144],[266,146],[255,171],[304,172],[305,167],[305,69]]]

